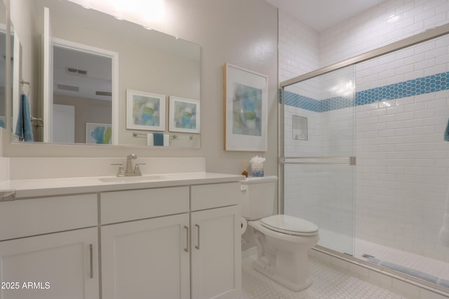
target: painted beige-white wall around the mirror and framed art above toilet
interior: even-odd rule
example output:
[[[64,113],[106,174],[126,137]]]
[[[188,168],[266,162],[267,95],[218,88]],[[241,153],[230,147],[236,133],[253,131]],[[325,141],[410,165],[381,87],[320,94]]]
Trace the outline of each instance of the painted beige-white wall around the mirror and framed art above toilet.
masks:
[[[236,8],[239,9],[236,9]],[[168,34],[201,46],[201,149],[149,149],[130,146],[61,146],[10,144],[6,156],[205,157],[210,172],[241,173],[240,161],[254,155],[267,157],[265,172],[277,173],[277,11],[263,0],[166,1],[170,18],[155,25]],[[269,78],[269,131],[267,153],[226,152],[224,140],[224,66],[229,62]],[[6,139],[6,140],[5,140]]]

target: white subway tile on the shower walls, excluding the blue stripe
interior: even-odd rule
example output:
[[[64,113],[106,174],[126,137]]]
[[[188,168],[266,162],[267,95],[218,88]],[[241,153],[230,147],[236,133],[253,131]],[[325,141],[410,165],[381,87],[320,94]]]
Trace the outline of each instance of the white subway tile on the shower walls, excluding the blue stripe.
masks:
[[[387,22],[393,15],[398,16],[398,20]],[[307,39],[311,39],[308,47],[320,53],[319,66],[323,67],[448,23],[449,1],[384,1],[370,11],[319,34],[290,18],[287,13],[281,12],[279,18],[279,78],[283,81],[305,74],[311,67],[304,63],[297,67],[297,71],[287,73],[281,71],[287,69],[286,62],[316,63],[317,60],[316,54],[310,53],[313,51],[298,54],[288,47],[304,48],[306,45],[298,46],[297,43],[307,44]],[[302,39],[295,39],[290,44],[290,36],[283,34],[286,28],[297,28]],[[318,46],[316,36],[319,36]],[[449,71],[448,46],[449,38],[442,37],[357,64],[356,92],[445,73]],[[293,88],[291,91],[296,92]],[[437,237],[443,221],[449,179],[449,143],[443,141],[449,117],[449,91],[358,104],[354,107],[356,238],[449,262],[449,251],[438,243]],[[331,130],[338,131],[340,126],[349,125],[349,120],[346,123],[342,121],[348,113],[347,109],[314,112],[286,106],[286,155],[326,155],[332,153],[335,146],[342,148],[346,138],[335,137]],[[291,120],[290,123],[288,120],[292,114],[309,119],[309,141],[288,138],[291,134]],[[326,124],[325,119],[330,115],[336,120],[328,120],[330,123]],[[346,146],[350,147],[350,144]],[[291,209],[293,213],[302,211],[314,215],[326,206],[328,210],[320,211],[323,212],[324,228],[330,226],[338,215],[344,215],[338,213],[342,207],[332,206],[335,195],[331,194],[330,188],[344,186],[342,182],[349,179],[347,175],[341,177],[329,167],[316,170],[316,174],[307,172],[304,167],[288,167],[287,172],[286,211]],[[311,176],[321,176],[321,179],[313,182]],[[322,197],[317,199],[316,193]],[[351,197],[350,194],[344,196]],[[297,198],[305,198],[306,204],[297,203]],[[321,203],[324,205],[319,207]],[[304,211],[308,207],[311,207],[310,211]],[[349,206],[343,209],[346,208],[351,209]],[[342,222],[335,221],[333,225],[344,228],[350,221]]]

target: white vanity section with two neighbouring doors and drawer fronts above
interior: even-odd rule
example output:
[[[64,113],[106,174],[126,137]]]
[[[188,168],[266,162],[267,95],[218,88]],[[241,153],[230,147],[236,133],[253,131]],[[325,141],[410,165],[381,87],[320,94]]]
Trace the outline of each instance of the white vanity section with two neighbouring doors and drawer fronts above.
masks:
[[[239,298],[239,190],[215,183],[101,193],[102,298]]]

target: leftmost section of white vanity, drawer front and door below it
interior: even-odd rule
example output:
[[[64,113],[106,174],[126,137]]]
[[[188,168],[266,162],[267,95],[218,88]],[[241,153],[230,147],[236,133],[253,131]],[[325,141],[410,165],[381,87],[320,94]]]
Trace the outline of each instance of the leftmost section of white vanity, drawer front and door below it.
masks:
[[[0,298],[99,298],[97,218],[96,194],[0,202]]]

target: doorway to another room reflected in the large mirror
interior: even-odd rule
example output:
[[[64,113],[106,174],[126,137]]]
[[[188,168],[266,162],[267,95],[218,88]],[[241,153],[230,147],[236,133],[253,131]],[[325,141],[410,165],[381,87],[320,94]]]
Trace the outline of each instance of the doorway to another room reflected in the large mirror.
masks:
[[[53,43],[51,141],[113,144],[114,60],[118,65],[117,53],[64,41]]]

